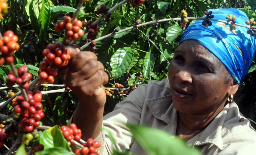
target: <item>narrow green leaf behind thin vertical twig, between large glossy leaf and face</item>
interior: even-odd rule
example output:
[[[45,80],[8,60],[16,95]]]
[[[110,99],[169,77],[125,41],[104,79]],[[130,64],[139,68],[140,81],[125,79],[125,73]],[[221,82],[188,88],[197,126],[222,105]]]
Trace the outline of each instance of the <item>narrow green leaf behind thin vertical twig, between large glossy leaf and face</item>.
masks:
[[[149,74],[149,67],[152,71],[155,64],[155,56],[154,54],[150,54],[150,62],[149,62],[149,53],[145,55],[144,63],[143,63],[143,76],[147,77]]]

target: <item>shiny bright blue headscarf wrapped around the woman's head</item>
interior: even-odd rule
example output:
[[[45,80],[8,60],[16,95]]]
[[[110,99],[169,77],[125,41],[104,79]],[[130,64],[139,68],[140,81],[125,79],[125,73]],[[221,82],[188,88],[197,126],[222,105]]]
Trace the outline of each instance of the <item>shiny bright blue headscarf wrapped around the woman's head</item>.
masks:
[[[246,25],[245,21],[248,20],[246,14],[238,9],[214,9],[211,11],[214,19],[218,20],[226,20],[228,14],[236,16],[238,24]],[[207,28],[202,25],[202,20],[189,26],[184,31],[180,43],[189,39],[199,41],[220,59],[233,78],[240,83],[254,58],[255,37],[246,33],[248,28],[237,26],[236,30],[231,31],[229,25],[213,20],[211,22],[212,25]]]

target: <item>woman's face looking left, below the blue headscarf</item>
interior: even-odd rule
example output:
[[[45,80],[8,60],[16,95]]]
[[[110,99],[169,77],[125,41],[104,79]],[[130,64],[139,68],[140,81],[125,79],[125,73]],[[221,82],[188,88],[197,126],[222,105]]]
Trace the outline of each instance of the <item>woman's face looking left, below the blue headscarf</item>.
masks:
[[[169,66],[173,105],[187,114],[207,114],[226,102],[230,82],[221,61],[195,40],[182,42]]]

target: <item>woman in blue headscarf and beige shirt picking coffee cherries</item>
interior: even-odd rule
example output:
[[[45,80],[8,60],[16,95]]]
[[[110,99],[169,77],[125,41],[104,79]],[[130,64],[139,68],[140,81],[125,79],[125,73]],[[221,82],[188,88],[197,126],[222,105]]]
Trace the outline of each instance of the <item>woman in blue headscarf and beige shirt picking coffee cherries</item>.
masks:
[[[212,11],[215,19],[232,14],[239,24],[248,20],[236,9]],[[104,118],[108,75],[95,54],[73,50],[73,59],[60,73],[79,98],[71,120],[83,131],[82,138],[96,138],[102,142],[101,154],[111,154],[113,144],[103,126],[114,136],[117,150],[145,154],[125,126],[132,123],[176,135],[202,154],[256,154],[255,130],[232,101],[254,57],[255,38],[237,27],[230,31],[213,22],[205,28],[201,21],[189,26],[170,62],[168,79],[140,85]]]

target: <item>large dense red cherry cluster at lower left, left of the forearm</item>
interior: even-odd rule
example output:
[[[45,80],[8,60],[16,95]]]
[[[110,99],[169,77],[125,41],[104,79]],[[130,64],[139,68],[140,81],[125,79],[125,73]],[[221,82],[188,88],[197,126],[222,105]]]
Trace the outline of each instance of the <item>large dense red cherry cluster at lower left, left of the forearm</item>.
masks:
[[[33,94],[32,91],[27,91],[27,97],[29,101],[25,101],[23,96],[17,96],[15,102],[12,103],[14,107],[14,112],[19,113],[20,129],[25,132],[31,132],[36,127],[40,126],[40,120],[45,116],[43,112],[43,105],[41,103],[42,93],[41,91],[36,91]]]

